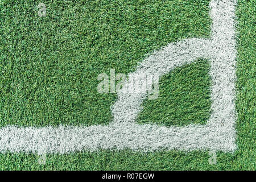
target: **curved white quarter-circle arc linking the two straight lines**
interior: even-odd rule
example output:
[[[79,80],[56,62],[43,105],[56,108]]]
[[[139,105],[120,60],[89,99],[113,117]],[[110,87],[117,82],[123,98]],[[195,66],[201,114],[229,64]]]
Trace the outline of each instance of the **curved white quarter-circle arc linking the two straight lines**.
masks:
[[[176,67],[189,64],[201,57],[207,57],[210,48],[209,40],[187,39],[171,43],[160,51],[152,53],[137,71],[129,74],[134,82],[143,80],[144,75],[161,77]],[[118,92],[118,100],[112,107],[114,122],[135,122],[141,111],[142,101],[146,98],[146,88],[135,88],[136,93],[129,91],[130,83],[126,82],[123,89]]]

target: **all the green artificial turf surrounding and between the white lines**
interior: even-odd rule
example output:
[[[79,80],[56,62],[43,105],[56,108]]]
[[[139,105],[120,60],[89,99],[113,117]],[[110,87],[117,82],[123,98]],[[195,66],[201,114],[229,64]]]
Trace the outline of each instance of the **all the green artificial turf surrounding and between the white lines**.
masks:
[[[209,38],[209,1],[0,2],[0,127],[108,124],[117,94],[100,94],[100,73],[130,73],[152,51],[186,38]],[[0,154],[1,170],[255,170],[254,1],[237,7],[237,146],[234,154],[130,150]],[[210,114],[207,60],[160,79],[138,123],[204,124]]]

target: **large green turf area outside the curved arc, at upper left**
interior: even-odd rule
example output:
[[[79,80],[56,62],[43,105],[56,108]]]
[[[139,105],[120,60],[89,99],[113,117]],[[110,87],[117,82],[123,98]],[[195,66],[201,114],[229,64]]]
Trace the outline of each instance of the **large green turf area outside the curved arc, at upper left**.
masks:
[[[117,96],[97,92],[100,73],[209,36],[209,1],[44,1],[46,17],[39,3],[0,6],[0,126],[108,124]]]

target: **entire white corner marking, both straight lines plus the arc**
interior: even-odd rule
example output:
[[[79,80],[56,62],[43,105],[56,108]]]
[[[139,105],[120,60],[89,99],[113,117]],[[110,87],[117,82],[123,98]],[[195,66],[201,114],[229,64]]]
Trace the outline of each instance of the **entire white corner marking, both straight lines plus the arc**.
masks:
[[[118,92],[112,107],[114,121],[109,126],[89,127],[19,127],[0,129],[1,152],[36,152],[61,154],[98,149],[155,150],[236,150],[236,39],[234,0],[212,0],[210,39],[187,39],[171,43],[147,57],[129,77],[139,79],[141,73],[163,76],[172,69],[199,58],[211,62],[212,115],[206,125],[164,127],[135,123],[142,110],[146,90],[130,94],[126,86]],[[128,83],[127,83],[128,84]]]

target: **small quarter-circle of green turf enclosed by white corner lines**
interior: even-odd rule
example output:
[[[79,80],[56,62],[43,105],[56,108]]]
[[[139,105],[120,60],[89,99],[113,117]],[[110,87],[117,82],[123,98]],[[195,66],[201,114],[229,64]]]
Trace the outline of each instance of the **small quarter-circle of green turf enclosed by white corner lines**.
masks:
[[[163,76],[159,97],[144,101],[138,122],[166,126],[207,123],[211,105],[209,69],[207,60],[199,60]]]

